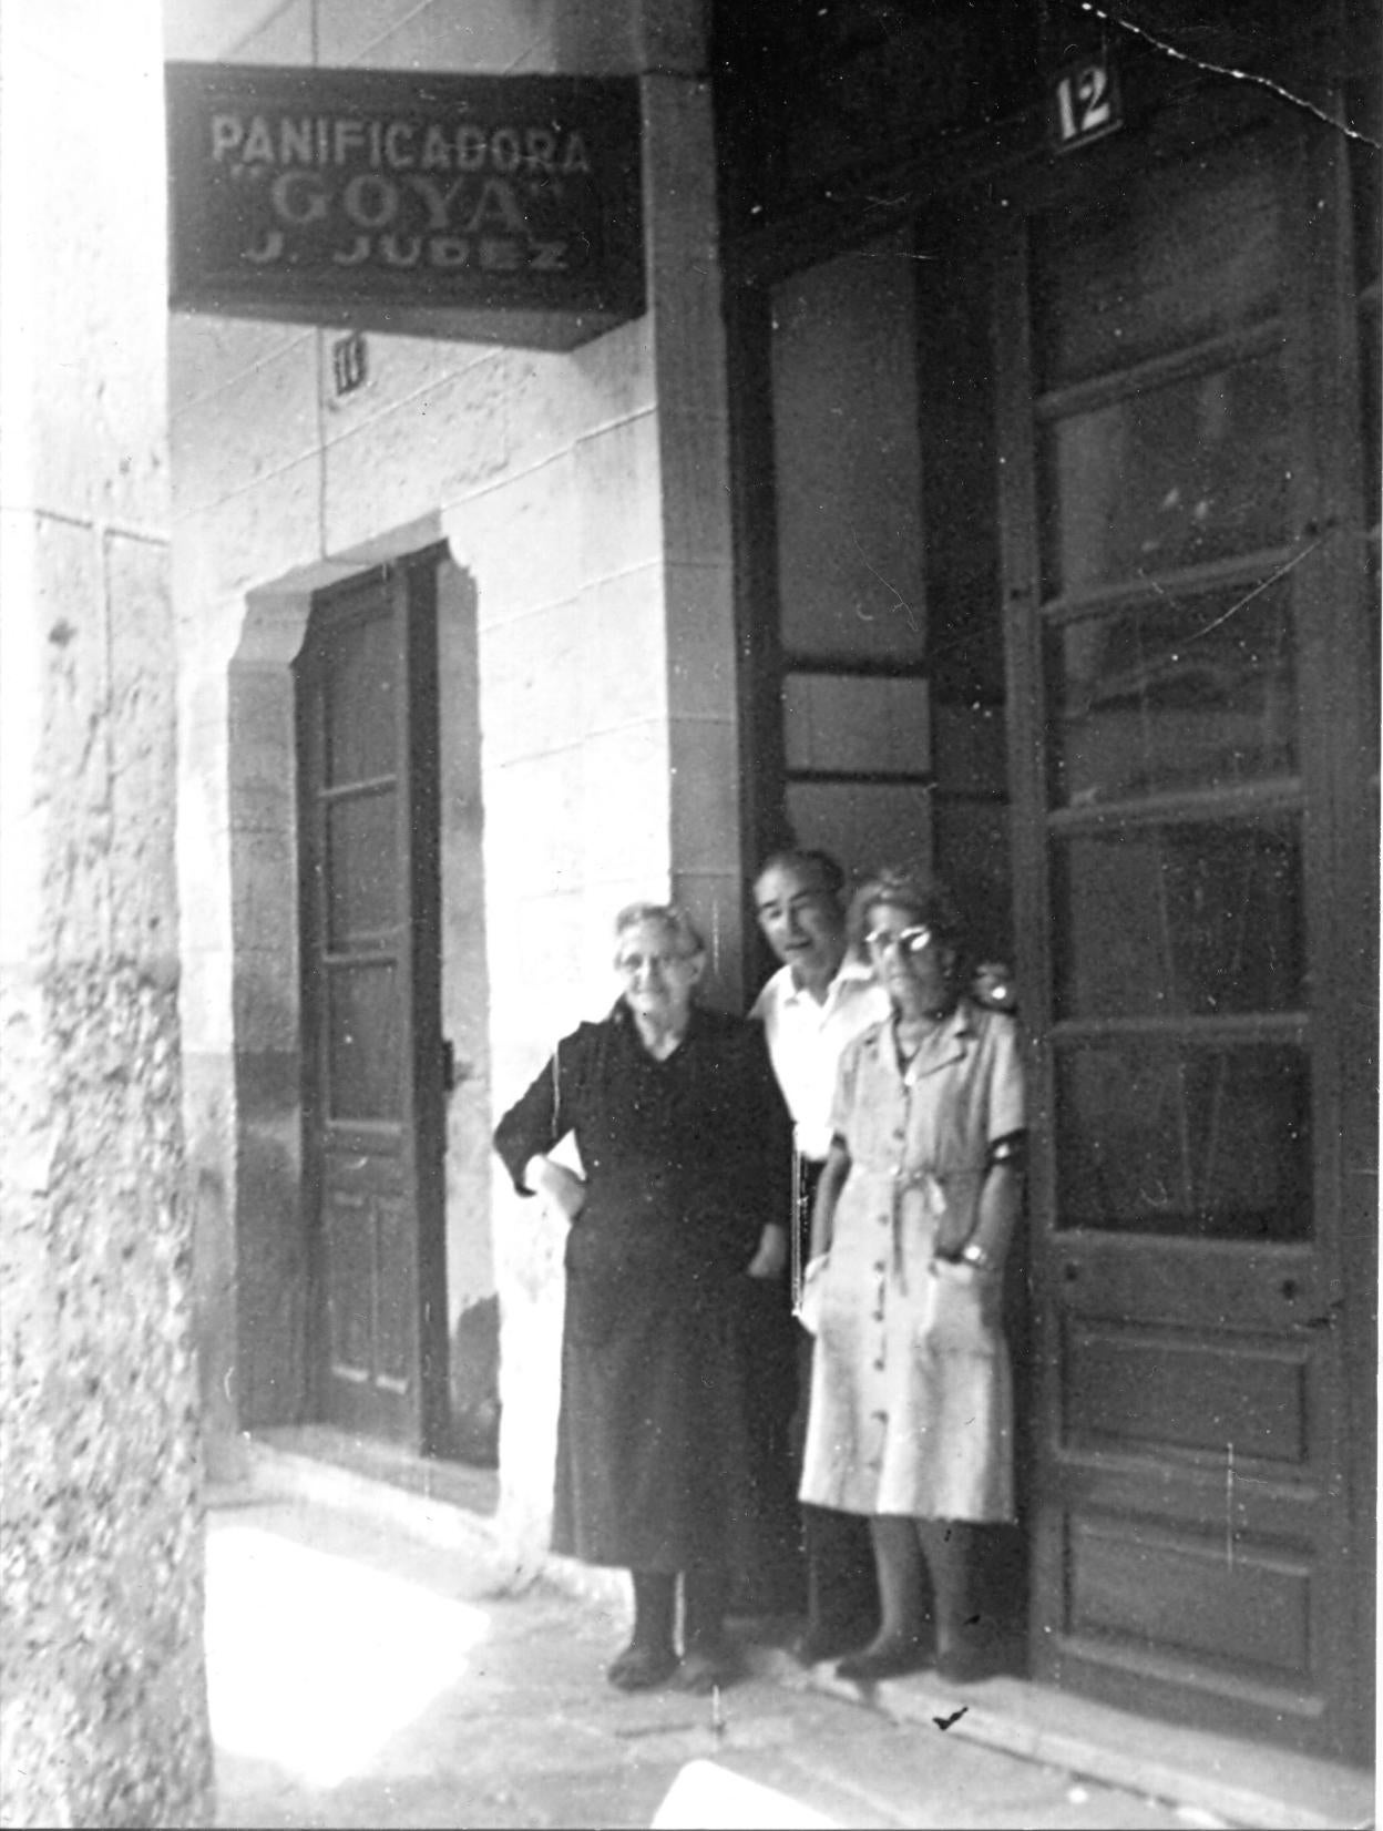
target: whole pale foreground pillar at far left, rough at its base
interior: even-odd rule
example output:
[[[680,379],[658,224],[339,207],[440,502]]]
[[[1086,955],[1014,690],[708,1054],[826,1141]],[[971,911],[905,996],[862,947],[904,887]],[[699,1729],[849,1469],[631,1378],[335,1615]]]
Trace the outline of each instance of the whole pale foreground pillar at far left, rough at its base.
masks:
[[[161,20],[0,15],[0,1822],[201,1826]]]

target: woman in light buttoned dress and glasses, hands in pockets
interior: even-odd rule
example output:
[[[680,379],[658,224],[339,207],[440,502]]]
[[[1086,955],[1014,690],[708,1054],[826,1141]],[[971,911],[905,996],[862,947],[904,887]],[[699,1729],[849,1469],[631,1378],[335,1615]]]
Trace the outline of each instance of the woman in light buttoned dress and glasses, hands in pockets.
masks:
[[[852,901],[850,936],[892,1013],[837,1077],[811,1218],[800,1498],[870,1520],[883,1619],[837,1672],[872,1683],[934,1659],[964,1683],[995,1653],[975,1533],[1013,1518],[1000,1296],[1022,1194],[1018,1036],[965,992],[960,919],[936,883],[881,870]]]

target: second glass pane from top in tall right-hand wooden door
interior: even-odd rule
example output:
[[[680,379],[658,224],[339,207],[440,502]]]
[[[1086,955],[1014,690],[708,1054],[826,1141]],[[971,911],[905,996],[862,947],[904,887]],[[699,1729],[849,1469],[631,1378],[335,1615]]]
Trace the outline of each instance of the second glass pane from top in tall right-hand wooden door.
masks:
[[[1079,591],[1277,546],[1288,401],[1258,357],[1130,394],[1048,427],[1042,588]]]

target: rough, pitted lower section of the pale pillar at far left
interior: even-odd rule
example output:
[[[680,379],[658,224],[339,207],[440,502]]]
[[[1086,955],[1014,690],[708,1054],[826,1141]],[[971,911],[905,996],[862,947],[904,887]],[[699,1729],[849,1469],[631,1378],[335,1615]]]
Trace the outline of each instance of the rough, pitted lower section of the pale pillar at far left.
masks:
[[[0,1820],[205,1824],[176,989],[0,992]]]

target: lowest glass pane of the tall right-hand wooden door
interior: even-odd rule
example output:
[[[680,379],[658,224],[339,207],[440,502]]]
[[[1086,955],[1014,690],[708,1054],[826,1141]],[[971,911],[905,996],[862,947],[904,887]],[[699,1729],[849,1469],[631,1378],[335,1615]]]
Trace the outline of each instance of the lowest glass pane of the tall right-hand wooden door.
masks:
[[[1057,1056],[1059,1225],[1216,1240],[1312,1227],[1306,1058],[1132,1042]]]

